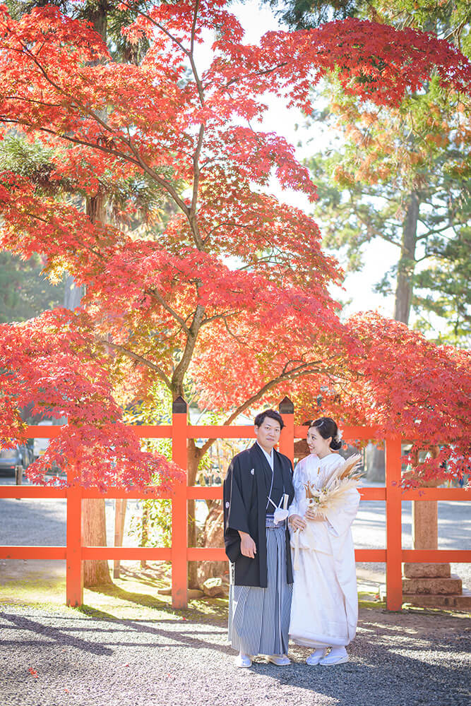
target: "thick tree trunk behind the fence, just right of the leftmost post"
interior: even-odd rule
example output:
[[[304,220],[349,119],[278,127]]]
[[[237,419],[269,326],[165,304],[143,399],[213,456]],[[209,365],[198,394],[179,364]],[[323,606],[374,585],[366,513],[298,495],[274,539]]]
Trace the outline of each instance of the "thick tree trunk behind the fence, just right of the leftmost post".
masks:
[[[88,546],[106,546],[107,532],[104,500],[100,498],[83,499],[82,538],[83,543]],[[83,585],[90,587],[104,583],[112,583],[108,562],[105,559],[84,561]]]

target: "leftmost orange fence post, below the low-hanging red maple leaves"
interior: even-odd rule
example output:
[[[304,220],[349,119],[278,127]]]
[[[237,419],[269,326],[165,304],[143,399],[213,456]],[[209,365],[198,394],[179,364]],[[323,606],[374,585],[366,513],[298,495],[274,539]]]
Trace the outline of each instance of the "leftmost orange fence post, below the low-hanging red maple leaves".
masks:
[[[83,604],[82,487],[78,476],[67,474],[66,599],[68,606]]]

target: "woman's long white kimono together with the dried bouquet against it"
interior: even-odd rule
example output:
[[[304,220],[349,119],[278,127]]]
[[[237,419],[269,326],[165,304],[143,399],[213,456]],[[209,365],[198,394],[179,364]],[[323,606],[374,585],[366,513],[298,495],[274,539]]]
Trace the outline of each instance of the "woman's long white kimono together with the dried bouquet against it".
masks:
[[[316,519],[291,530],[294,568],[290,637],[299,645],[348,645],[357,627],[358,599],[350,526],[359,503],[358,464],[337,453],[311,454],[294,469],[290,515]]]

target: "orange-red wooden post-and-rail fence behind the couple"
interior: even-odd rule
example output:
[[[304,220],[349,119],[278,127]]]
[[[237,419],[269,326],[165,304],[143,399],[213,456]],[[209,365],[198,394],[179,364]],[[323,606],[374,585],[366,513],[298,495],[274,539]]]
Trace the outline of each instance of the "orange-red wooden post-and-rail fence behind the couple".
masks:
[[[285,429],[280,437],[280,451],[293,459],[294,439],[306,438],[306,426],[294,426],[294,408],[285,398],[280,403]],[[189,438],[254,438],[254,426],[189,426],[186,402],[179,397],[174,402],[171,426],[134,426],[140,438],[171,438],[172,458],[186,469],[186,446]],[[59,426],[30,426],[28,437],[52,438],[59,434]],[[350,426],[343,431],[345,441],[378,438],[373,427]],[[407,500],[469,501],[463,489],[427,488],[403,491],[401,477],[401,441],[399,436],[388,436],[386,445],[386,487],[360,489],[364,501],[386,501],[386,547],[357,549],[357,561],[386,562],[387,608],[400,610],[402,604],[401,562],[470,562],[471,551],[403,549],[401,544],[402,502]],[[4,559],[66,559],[66,602],[71,606],[83,604],[84,559],[120,559],[172,562],[172,604],[184,608],[187,604],[187,562],[221,561],[224,549],[189,547],[187,539],[187,501],[189,499],[221,499],[222,489],[216,487],[177,484],[172,496],[172,546],[122,547],[84,546],[81,539],[82,498],[162,498],[160,489],[150,486],[145,492],[109,488],[103,492],[94,488],[69,486],[0,486],[1,498],[66,498],[66,546],[0,546]]]

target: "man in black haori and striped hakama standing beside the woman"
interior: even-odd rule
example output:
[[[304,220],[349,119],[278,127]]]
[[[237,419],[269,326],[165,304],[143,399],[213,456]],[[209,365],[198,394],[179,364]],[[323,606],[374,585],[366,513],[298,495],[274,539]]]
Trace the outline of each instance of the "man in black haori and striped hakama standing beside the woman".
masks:
[[[287,657],[292,597],[287,506],[294,498],[292,464],[275,450],[285,426],[273,409],[257,414],[256,443],[232,459],[224,481],[224,539],[230,562],[229,640],[236,665],[256,654]]]

